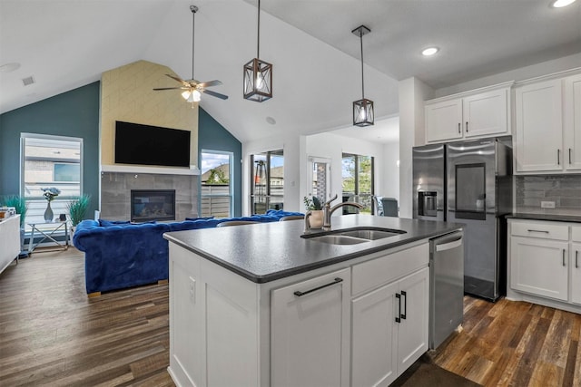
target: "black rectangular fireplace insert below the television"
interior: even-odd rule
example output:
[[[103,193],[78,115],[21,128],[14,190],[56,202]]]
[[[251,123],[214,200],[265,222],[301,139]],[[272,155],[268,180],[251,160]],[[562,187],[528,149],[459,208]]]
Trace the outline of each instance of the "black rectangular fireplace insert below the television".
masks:
[[[175,189],[132,189],[131,221],[175,220]]]

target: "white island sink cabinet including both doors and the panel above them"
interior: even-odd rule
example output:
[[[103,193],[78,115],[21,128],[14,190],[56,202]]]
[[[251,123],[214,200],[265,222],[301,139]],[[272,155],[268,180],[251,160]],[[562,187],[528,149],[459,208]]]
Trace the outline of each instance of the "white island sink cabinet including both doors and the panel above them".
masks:
[[[385,285],[352,301],[351,385],[387,386],[428,350],[427,265],[424,245],[353,267],[354,293],[379,285],[380,276]]]

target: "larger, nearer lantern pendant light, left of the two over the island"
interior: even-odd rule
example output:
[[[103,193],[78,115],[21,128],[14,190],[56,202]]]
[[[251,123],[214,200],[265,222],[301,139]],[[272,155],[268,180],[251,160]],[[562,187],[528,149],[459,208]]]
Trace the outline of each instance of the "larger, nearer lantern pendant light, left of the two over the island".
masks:
[[[244,64],[244,99],[263,102],[272,98],[272,64],[261,61],[261,0],[258,0],[256,58]]]

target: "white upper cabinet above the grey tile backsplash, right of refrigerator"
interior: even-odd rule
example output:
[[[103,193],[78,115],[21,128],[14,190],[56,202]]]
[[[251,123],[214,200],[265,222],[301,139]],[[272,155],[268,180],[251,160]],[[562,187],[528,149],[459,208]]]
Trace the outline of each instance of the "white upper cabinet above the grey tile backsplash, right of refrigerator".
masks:
[[[581,74],[515,89],[517,172],[581,169]]]

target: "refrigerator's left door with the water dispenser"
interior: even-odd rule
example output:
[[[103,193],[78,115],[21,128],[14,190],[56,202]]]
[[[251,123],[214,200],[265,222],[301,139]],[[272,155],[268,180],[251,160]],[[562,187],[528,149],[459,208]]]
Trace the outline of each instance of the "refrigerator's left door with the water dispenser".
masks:
[[[413,149],[413,217],[446,220],[446,147],[425,145]]]

